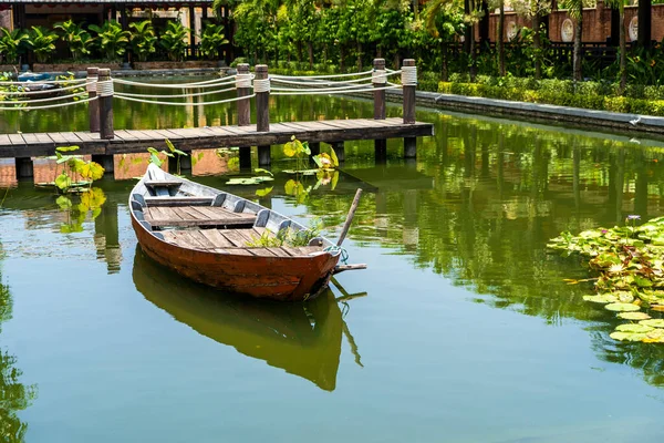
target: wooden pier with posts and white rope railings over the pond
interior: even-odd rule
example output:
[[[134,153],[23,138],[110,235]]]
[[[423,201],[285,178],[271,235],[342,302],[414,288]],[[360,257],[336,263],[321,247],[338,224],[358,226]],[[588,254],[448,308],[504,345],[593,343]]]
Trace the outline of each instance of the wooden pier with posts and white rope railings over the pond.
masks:
[[[387,76],[402,73],[402,84],[396,85],[387,82]],[[347,74],[332,75],[346,76]],[[355,74],[352,74],[355,75]],[[31,159],[34,157],[53,155],[56,147],[76,145],[80,147],[76,154],[94,155],[104,167],[113,165],[113,155],[128,153],[144,153],[148,147],[157,150],[164,148],[165,140],[168,138],[178,150],[186,153],[191,150],[234,147],[240,148],[240,167],[251,167],[251,146],[258,147],[258,163],[260,166],[269,166],[271,163],[270,146],[287,143],[292,136],[298,140],[309,142],[313,154],[320,152],[320,143],[329,143],[335,151],[340,162],[345,158],[344,142],[374,140],[376,159],[382,161],[386,156],[386,140],[404,140],[404,157],[416,157],[416,140],[421,136],[434,135],[434,125],[415,121],[415,87],[417,84],[416,68],[414,60],[404,60],[402,71],[387,72],[385,61],[376,59],[374,69],[370,72],[357,73],[357,75],[370,75],[365,79],[370,83],[359,84],[351,81],[326,81],[322,91],[328,93],[346,93],[359,91],[373,91],[374,94],[374,115],[373,119],[353,119],[353,120],[331,120],[312,122],[279,122],[270,123],[269,99],[270,83],[276,82],[274,95],[307,94],[291,84],[297,84],[299,78],[274,79],[268,75],[267,65],[257,65],[255,75],[249,71],[248,64],[238,65],[238,74],[232,79],[212,80],[198,83],[188,83],[179,85],[185,91],[191,89],[210,87],[210,83],[217,82],[212,86],[227,86],[230,89],[220,90],[225,92],[237,90],[236,99],[228,99],[216,102],[205,102],[197,104],[217,104],[222,102],[236,102],[238,112],[237,126],[214,126],[195,128],[165,128],[165,130],[114,130],[113,126],[113,100],[139,101],[157,104],[176,104],[160,101],[165,95],[153,94],[129,94],[126,92],[114,92],[113,84],[138,85],[138,83],[126,80],[112,79],[110,70],[91,68],[87,70],[85,84],[86,93],[79,94],[79,100],[89,103],[90,131],[83,132],[54,132],[54,133],[20,133],[20,134],[0,134],[0,158],[15,158],[17,175],[28,176],[31,169]],[[253,84],[251,83],[253,80]],[[302,80],[302,79],[300,79]],[[303,84],[313,90],[310,93],[320,93],[312,84],[307,81]],[[281,82],[281,85],[280,85]],[[206,84],[207,83],[207,84]],[[286,86],[284,86],[286,84]],[[334,84],[330,87],[326,85]],[[349,85],[351,84],[351,85]],[[173,87],[173,85],[148,85],[155,87]],[[72,86],[74,87],[74,86]],[[385,90],[391,87],[403,89],[403,117],[386,119],[385,116]],[[71,87],[69,87],[71,89]],[[215,91],[212,91],[215,92]],[[205,95],[209,93],[199,93]],[[147,96],[147,99],[145,99]],[[166,95],[168,96],[168,95]],[[183,96],[183,95],[179,95]],[[256,124],[251,124],[250,100],[256,97]],[[151,100],[152,99],[152,100]],[[40,100],[34,101],[39,103]],[[15,102],[11,102],[15,103]],[[10,104],[11,104],[10,103]],[[180,103],[181,104],[181,103]],[[29,110],[44,109],[34,106],[33,102],[23,101]],[[66,104],[63,104],[66,105]],[[53,107],[58,105],[49,105]],[[7,110],[7,109],[6,109]],[[1,111],[0,111],[1,112]],[[108,167],[106,167],[108,172]]]

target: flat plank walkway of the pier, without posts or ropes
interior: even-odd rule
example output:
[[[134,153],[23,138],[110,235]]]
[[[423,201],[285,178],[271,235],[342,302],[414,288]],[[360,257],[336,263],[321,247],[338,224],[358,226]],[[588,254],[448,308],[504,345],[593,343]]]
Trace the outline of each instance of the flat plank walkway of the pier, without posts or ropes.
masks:
[[[354,119],[297,123],[272,123],[269,132],[256,125],[215,126],[180,130],[115,131],[113,140],[98,133],[55,132],[0,134],[0,158],[53,155],[55,147],[77,145],[76,154],[113,155],[142,153],[164,147],[168,138],[181,151],[229,146],[268,146],[287,143],[291,136],[310,143],[339,143],[353,140],[384,140],[433,135],[430,123],[404,124],[402,119]]]

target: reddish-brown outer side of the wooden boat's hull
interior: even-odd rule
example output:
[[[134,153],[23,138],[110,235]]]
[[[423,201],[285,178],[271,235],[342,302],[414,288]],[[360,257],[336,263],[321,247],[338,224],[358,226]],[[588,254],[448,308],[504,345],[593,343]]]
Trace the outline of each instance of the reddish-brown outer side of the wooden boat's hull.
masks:
[[[262,257],[189,249],[147,231],[132,214],[138,244],[155,261],[224,291],[279,301],[307,300],[326,286],[339,255]]]

